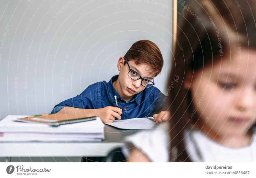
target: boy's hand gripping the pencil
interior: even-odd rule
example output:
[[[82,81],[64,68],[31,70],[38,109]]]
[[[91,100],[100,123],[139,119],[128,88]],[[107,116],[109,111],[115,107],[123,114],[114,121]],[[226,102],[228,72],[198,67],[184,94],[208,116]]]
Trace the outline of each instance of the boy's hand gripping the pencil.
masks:
[[[112,123],[116,118],[121,119],[122,109],[113,106],[107,106],[100,109],[95,109],[96,116],[100,117],[103,123]]]

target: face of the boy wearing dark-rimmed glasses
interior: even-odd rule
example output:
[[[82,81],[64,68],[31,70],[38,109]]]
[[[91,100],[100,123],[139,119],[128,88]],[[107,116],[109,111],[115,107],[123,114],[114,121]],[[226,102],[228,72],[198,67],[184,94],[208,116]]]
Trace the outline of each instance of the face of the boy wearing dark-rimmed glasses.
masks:
[[[128,76],[129,67],[127,63],[124,65],[124,58],[121,57],[118,59],[117,68],[120,71],[119,76],[116,82],[113,82],[113,85],[118,92],[118,94],[126,101],[132,99],[132,97],[140,93],[142,90],[145,89],[144,86],[141,85],[141,80],[132,80]],[[130,67],[136,71],[142,78],[146,78],[150,81],[153,80],[154,76],[156,75],[156,71],[152,69],[149,64],[135,64],[134,60],[128,61]]]

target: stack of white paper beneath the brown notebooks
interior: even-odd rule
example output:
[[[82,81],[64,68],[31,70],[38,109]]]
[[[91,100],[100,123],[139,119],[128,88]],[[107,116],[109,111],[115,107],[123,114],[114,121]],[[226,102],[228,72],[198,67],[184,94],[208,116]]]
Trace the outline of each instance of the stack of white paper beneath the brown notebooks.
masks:
[[[47,124],[17,122],[26,116],[9,115],[0,121],[0,142],[100,142],[104,124],[96,120],[50,127]]]

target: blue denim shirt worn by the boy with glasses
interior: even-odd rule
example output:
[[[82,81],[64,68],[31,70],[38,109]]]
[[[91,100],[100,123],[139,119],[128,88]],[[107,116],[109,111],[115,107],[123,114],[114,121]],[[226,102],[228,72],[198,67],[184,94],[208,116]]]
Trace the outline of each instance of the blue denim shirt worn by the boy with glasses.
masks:
[[[164,94],[156,87],[145,88],[140,93],[134,95],[129,101],[124,101],[113,86],[118,75],[111,78],[109,82],[101,81],[87,87],[80,95],[62,101],[54,106],[51,113],[60,111],[65,106],[98,109],[106,106],[116,106],[115,98],[117,97],[118,107],[122,109],[122,119],[139,118],[153,116],[164,107]]]

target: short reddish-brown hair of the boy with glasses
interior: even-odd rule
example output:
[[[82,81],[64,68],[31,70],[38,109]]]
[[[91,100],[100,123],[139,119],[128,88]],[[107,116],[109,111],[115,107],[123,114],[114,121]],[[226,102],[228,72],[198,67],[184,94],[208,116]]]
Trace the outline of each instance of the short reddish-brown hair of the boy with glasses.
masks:
[[[135,64],[149,64],[156,71],[156,75],[160,74],[164,64],[161,51],[155,43],[149,40],[133,43],[124,57],[127,60],[135,60]]]

